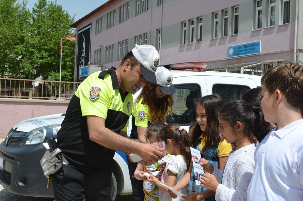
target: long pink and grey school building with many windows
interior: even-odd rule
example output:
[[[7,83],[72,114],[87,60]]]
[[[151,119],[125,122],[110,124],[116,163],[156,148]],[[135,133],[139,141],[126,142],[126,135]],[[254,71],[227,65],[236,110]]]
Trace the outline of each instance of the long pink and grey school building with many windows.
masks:
[[[302,64],[302,14],[302,0],[109,0],[71,25],[75,78],[117,67],[135,44],[155,46],[160,65],[261,75],[283,61]]]

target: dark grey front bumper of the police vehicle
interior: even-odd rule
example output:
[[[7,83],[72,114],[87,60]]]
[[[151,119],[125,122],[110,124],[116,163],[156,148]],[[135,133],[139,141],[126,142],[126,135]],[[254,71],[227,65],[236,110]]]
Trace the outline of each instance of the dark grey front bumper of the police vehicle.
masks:
[[[5,140],[6,141],[6,140]],[[52,184],[47,188],[40,159],[46,148],[43,145],[20,146],[19,142],[0,144],[0,184],[9,192],[34,197],[54,197]]]

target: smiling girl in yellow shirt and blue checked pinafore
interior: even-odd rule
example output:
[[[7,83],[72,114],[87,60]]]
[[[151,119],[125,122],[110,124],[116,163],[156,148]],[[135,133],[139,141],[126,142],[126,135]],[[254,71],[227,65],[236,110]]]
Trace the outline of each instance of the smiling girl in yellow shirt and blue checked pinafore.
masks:
[[[224,100],[219,95],[207,95],[195,100],[195,103],[198,124],[192,132],[190,146],[201,152],[201,158],[223,170],[232,150],[231,144],[219,135],[217,111],[223,106]],[[196,185],[192,161],[181,182],[173,188],[179,191],[187,185],[189,194],[184,197],[185,200],[215,200],[215,192]],[[176,197],[174,193],[171,193],[171,196]]]

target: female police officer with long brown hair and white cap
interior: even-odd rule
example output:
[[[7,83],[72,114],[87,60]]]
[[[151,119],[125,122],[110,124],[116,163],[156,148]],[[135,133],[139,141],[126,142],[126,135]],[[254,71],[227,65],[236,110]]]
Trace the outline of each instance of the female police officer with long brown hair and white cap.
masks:
[[[141,143],[146,143],[145,133],[147,127],[157,121],[166,121],[166,116],[171,114],[174,104],[173,95],[175,87],[172,85],[171,72],[159,66],[155,73],[157,83],[147,82],[136,99],[132,110],[132,130],[130,138]],[[128,171],[132,182],[132,192],[135,201],[144,200],[142,192],[143,182],[134,178],[137,163],[128,160]]]

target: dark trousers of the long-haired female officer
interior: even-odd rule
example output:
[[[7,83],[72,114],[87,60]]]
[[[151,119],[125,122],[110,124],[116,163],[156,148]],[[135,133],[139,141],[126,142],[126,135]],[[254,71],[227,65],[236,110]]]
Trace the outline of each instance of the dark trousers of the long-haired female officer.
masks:
[[[144,200],[144,191],[143,191],[143,181],[138,180],[134,176],[134,172],[137,168],[138,163],[132,163],[128,160],[127,158],[127,163],[128,163],[128,171],[129,171],[129,176],[132,182],[132,190],[133,190],[133,196],[135,201],[143,201]]]

